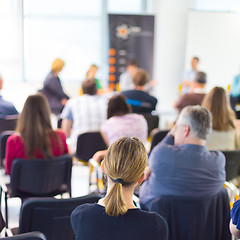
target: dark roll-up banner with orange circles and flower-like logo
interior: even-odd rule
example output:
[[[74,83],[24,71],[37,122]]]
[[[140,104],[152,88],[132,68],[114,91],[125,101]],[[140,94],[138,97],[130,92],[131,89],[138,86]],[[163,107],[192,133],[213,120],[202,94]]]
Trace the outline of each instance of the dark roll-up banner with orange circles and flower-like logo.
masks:
[[[154,16],[109,14],[109,88],[117,89],[129,60],[153,74]]]

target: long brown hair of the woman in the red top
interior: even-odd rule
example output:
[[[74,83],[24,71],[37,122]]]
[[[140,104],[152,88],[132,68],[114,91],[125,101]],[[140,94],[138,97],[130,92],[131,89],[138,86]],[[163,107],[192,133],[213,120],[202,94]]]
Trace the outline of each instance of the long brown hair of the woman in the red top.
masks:
[[[27,98],[16,131],[21,134],[28,158],[34,158],[36,150],[41,150],[45,157],[53,156],[50,136],[60,143],[51,126],[49,104],[46,97],[40,93]]]

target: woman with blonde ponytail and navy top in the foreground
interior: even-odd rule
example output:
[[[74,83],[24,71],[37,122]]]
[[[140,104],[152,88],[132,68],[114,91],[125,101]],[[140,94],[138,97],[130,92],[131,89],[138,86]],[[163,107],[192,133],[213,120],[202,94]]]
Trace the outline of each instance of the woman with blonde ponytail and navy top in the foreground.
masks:
[[[71,215],[76,239],[166,240],[166,221],[158,214],[136,208],[134,188],[144,179],[147,152],[137,138],[114,142],[102,162],[108,178],[107,195],[95,204],[77,207]]]

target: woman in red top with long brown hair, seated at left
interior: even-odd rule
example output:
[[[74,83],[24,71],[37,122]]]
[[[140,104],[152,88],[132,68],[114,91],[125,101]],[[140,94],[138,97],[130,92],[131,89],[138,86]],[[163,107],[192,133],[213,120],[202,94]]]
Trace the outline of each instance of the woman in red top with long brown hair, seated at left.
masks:
[[[29,96],[19,116],[16,133],[7,140],[7,174],[10,175],[12,162],[16,158],[49,158],[67,153],[65,134],[52,129],[45,96],[40,93]]]

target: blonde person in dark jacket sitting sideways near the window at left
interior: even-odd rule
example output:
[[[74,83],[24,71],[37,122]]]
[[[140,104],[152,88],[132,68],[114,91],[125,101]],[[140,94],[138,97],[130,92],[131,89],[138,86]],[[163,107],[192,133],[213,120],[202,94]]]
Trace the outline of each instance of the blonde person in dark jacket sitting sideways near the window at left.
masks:
[[[43,89],[40,90],[47,97],[52,113],[56,115],[62,112],[64,105],[69,99],[63,92],[62,84],[58,77],[64,65],[65,62],[59,58],[53,61],[52,70],[43,83]]]

